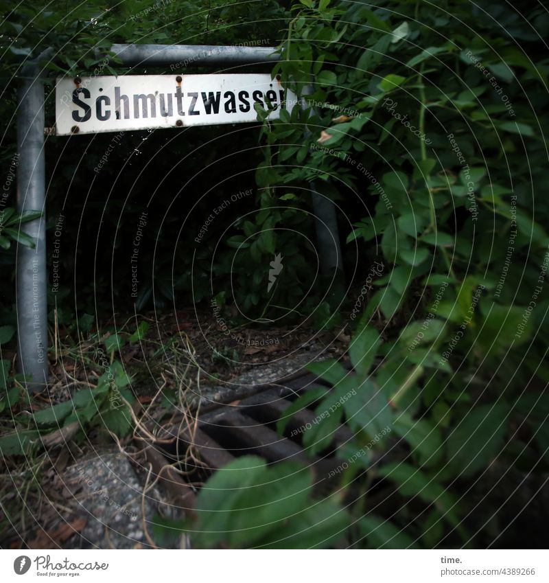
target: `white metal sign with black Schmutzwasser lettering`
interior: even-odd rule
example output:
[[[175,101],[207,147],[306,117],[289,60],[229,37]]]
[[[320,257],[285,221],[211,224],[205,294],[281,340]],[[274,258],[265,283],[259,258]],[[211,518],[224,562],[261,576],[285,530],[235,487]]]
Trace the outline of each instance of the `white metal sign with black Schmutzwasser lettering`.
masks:
[[[296,96],[268,73],[61,78],[56,134],[249,123],[255,104],[277,119]]]

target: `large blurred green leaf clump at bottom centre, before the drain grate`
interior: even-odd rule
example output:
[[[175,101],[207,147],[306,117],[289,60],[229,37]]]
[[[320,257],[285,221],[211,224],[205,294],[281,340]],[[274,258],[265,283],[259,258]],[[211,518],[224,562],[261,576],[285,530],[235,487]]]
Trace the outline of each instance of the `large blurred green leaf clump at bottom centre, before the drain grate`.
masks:
[[[294,462],[266,466],[235,459],[201,488],[196,500],[196,548],[326,547],[348,525],[334,499],[314,502],[311,474]],[[305,509],[305,510],[304,510]]]

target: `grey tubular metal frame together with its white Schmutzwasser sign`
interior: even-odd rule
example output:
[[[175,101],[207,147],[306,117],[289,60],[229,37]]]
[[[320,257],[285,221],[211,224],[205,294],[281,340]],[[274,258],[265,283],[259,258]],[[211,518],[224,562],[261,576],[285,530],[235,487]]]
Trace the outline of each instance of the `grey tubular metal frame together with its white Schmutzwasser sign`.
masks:
[[[47,49],[41,57],[49,54]],[[254,103],[261,103],[275,119],[286,103],[277,80],[260,73],[185,75],[178,71],[200,65],[248,65],[279,60],[274,47],[215,47],[200,45],[113,45],[111,51],[128,67],[170,66],[163,76],[95,77],[58,82],[58,135],[136,130],[170,126],[255,122]],[[37,59],[40,59],[40,57]],[[29,391],[47,385],[47,265],[45,249],[44,88],[40,67],[23,68],[19,87],[17,141],[19,212],[41,210],[39,219],[21,225],[36,247],[18,245],[16,310],[19,370],[27,376]],[[288,105],[296,104],[291,92]],[[171,105],[171,109],[170,109]],[[249,107],[249,108],[248,108]],[[153,115],[154,114],[154,115]],[[323,271],[340,269],[340,249],[334,204],[313,188]],[[318,230],[320,229],[320,230]],[[326,230],[336,251],[326,251]],[[327,239],[326,239],[327,240]],[[323,251],[324,250],[324,251]]]

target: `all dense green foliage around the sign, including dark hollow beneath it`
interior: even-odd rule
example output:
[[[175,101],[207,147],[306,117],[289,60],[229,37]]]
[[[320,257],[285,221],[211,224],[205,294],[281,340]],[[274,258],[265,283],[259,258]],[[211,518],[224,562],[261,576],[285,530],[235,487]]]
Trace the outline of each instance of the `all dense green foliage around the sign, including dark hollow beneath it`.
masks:
[[[107,12],[89,2],[60,18],[12,5],[2,23],[6,164],[14,155],[14,75],[25,56],[48,46],[55,57],[47,69],[86,75],[103,62],[93,49],[108,52],[113,42],[270,39],[281,52],[273,78],[307,102],[274,122],[258,111],[257,125],[235,133],[124,136],[97,176],[112,136],[71,137],[78,148],[47,142],[55,169],[49,225],[59,214],[80,225],[63,235],[56,301],[67,325],[78,310],[101,319],[97,300],[99,311],[128,308],[120,258],[154,198],[137,310],[152,305],[154,289],[156,308],[215,297],[260,324],[312,315],[318,328],[348,321],[352,329],[352,374],[335,361],[312,365],[334,390],[307,393],[290,411],[311,402],[318,415],[336,411],[304,432],[310,455],[325,452],[340,424],[353,432],[338,451],[348,460],[332,477],[338,493],[311,510],[306,472],[242,458],[202,490],[198,523],[176,527],[202,531],[201,546],[519,545],[508,529],[515,490],[528,476],[534,495],[549,470],[546,11],[495,1],[301,0],[291,9],[274,1],[173,2],[143,13],[147,3],[125,1]],[[120,70],[108,58],[104,74]],[[161,175],[150,171],[159,159]],[[312,267],[312,182],[338,208],[343,301]],[[223,192],[248,188],[255,207],[229,209],[205,244],[185,238],[185,225],[200,224]],[[4,264],[12,260],[6,253]],[[264,275],[274,253],[285,269],[270,294]],[[13,325],[12,290],[4,286],[2,295],[2,323]],[[220,500],[218,488],[236,493]],[[295,536],[319,521],[323,529]]]

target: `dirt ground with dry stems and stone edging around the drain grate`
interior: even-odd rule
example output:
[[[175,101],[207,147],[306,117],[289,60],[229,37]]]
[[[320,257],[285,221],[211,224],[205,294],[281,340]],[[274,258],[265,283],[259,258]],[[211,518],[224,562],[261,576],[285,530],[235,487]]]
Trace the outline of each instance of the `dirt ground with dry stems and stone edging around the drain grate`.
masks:
[[[179,390],[185,401],[180,406],[192,409],[220,387],[230,393],[231,387],[276,382],[318,359],[342,358],[350,340],[347,325],[331,331],[307,325],[231,329],[211,310],[197,313],[194,308],[162,315],[149,312],[137,319],[117,317],[104,323],[102,330],[109,325],[119,330],[121,321],[127,331],[122,336],[129,336],[143,321],[148,331],[112,355],[104,350],[108,332],[98,334],[91,328],[79,338],[75,330],[54,330],[49,387],[33,398],[30,409],[65,402],[82,387],[94,387],[106,357],[120,361],[131,376],[138,408],[148,407],[159,393]],[[170,413],[169,404],[159,404],[150,415],[152,425],[162,424]],[[3,433],[13,431],[13,422],[2,421]],[[151,546],[147,524],[155,514],[170,516],[170,504],[158,489],[152,491],[154,495],[147,491],[146,464],[132,436],[113,444],[104,431],[95,429],[76,439],[60,428],[49,443],[32,457],[6,458],[0,477],[0,546]],[[128,484],[134,494],[129,498]],[[122,512],[125,499],[129,505]],[[113,513],[113,506],[119,511]],[[111,515],[116,524],[108,523]],[[103,540],[105,534],[108,540]]]

